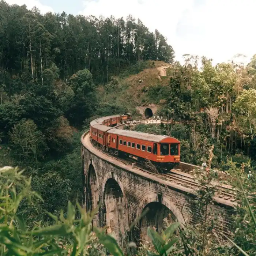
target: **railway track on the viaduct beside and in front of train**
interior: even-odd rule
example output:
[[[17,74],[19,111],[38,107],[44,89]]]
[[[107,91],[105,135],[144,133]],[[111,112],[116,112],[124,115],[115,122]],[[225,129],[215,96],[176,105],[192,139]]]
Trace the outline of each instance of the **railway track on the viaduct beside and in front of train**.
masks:
[[[133,158],[125,158],[125,159],[120,158],[116,155],[107,153],[106,151],[102,150],[102,148],[96,146],[92,142],[91,142],[91,144],[97,150],[99,150],[102,154],[106,155],[108,158],[117,160],[117,161],[123,163],[124,165],[132,166],[132,168],[136,168],[136,169],[140,170],[141,172],[153,175],[157,178],[160,178],[160,179],[168,181],[168,182],[175,183],[175,184],[180,185],[185,188],[193,189],[194,191],[196,191],[197,189],[200,188],[200,185],[194,180],[194,177],[191,174],[189,174],[187,169],[185,169],[185,172],[181,169],[172,169],[170,173],[154,172],[153,170],[150,170],[150,169],[146,168],[144,165],[138,163]],[[216,188],[216,191],[217,191],[216,196],[217,197],[224,199],[224,200],[228,200],[230,202],[236,201],[236,199],[234,198],[233,190],[231,188],[224,187],[223,185],[219,185],[217,183],[212,184],[212,186],[215,186],[215,188]],[[203,187],[206,188],[206,186],[203,186]]]

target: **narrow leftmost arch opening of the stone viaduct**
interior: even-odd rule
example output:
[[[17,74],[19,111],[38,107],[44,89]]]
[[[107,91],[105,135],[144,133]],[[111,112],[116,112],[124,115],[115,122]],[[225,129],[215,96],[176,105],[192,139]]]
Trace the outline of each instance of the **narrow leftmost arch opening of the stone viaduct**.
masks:
[[[86,181],[86,210],[92,211],[99,204],[99,184],[94,166],[90,163]],[[97,216],[95,216],[97,221]]]

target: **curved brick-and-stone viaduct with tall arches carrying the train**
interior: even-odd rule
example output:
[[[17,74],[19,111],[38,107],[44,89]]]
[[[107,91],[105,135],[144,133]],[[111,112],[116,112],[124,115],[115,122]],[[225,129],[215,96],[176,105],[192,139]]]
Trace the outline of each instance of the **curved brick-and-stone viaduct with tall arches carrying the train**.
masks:
[[[125,165],[95,148],[88,132],[81,137],[81,142],[84,208],[92,210],[101,202],[93,225],[106,226],[120,244],[131,223],[145,208],[149,208],[147,214],[128,232],[132,241],[145,241],[148,226],[161,230],[164,218],[181,224],[203,221],[194,204],[195,189]],[[229,233],[233,206],[234,203],[229,200],[215,198],[213,212],[209,211],[209,214],[212,219],[218,219],[218,234]]]

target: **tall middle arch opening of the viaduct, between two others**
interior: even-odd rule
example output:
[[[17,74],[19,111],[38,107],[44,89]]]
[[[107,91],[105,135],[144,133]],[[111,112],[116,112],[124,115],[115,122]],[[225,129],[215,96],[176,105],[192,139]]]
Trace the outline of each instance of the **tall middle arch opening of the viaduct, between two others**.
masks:
[[[111,173],[110,173],[111,174]],[[127,202],[121,182],[109,174],[103,182],[103,208],[105,208],[105,226],[121,244],[122,235],[128,229]]]

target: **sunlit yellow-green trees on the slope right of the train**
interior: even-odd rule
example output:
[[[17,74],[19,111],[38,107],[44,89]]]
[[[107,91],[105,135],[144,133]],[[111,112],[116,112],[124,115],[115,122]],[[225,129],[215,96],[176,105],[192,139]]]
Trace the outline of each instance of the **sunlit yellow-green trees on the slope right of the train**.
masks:
[[[167,124],[131,128],[179,139],[184,162],[201,165],[214,145],[214,167],[225,169],[223,164],[230,157],[240,163],[251,158],[255,166],[256,55],[248,65],[234,58],[213,66],[211,59],[203,57],[201,69],[197,56],[184,57],[184,65],[175,62],[167,68],[167,81],[134,89],[133,94],[139,95],[141,102],[158,105],[157,115]],[[133,100],[135,104],[136,97]]]

